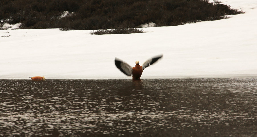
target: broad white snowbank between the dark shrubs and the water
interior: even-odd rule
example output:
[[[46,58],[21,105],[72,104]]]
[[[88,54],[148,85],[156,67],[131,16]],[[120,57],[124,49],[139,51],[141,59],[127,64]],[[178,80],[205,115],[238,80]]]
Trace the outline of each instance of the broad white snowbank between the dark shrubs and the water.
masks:
[[[245,14],[146,33],[91,35],[92,30],[0,30],[0,79],[131,79],[114,64],[131,66],[163,54],[146,78],[256,77],[257,1],[224,2]],[[10,35],[9,37],[1,37]]]

